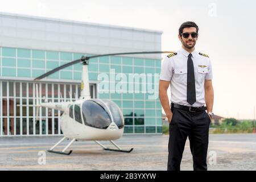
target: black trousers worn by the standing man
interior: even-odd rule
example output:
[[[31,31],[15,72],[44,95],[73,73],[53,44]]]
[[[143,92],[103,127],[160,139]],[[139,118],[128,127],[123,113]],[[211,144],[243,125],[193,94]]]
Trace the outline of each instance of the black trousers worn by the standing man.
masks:
[[[191,113],[172,108],[169,131],[168,171],[180,171],[185,142],[189,138],[194,171],[207,170],[210,118],[205,111]]]

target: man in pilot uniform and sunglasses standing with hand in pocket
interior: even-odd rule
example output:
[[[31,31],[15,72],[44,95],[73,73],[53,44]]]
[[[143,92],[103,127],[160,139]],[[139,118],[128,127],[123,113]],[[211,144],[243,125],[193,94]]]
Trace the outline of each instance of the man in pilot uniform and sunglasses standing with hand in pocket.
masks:
[[[193,169],[207,170],[209,125],[213,116],[212,65],[208,55],[195,51],[198,31],[194,22],[181,24],[178,37],[182,48],[164,59],[160,73],[159,98],[170,123],[168,171],[180,170],[187,137]],[[169,85],[171,106],[167,96]]]

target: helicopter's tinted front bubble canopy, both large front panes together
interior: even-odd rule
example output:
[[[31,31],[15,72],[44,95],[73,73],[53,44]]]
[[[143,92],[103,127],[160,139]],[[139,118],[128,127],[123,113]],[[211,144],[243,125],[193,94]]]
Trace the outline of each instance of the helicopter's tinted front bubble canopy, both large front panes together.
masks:
[[[119,129],[122,129],[125,125],[122,112],[113,101],[99,99],[86,100],[82,103],[81,109],[84,123],[87,126],[107,129],[112,122],[111,115],[115,125]]]

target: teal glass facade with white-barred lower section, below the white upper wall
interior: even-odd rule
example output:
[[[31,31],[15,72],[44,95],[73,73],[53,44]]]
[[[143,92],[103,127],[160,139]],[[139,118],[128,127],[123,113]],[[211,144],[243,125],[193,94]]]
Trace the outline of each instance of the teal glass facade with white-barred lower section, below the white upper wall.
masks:
[[[82,55],[73,52],[0,47],[0,135],[61,134],[60,111],[42,108],[40,121],[35,121],[35,108],[28,107],[35,104],[35,83],[31,80],[69,61],[80,59]],[[160,73],[160,67],[161,61],[155,59],[98,57],[90,59],[89,81],[97,83],[100,73],[110,76],[113,70],[115,76],[124,73],[127,78],[130,73],[154,75]],[[48,76],[52,80],[40,82],[40,100],[44,100],[44,97],[52,102],[60,101],[61,97],[64,101],[69,100],[69,92],[75,100],[75,93],[80,96],[78,82],[81,80],[81,71],[81,64],[75,64]],[[125,133],[162,133],[162,107],[159,98],[150,100],[148,96],[152,93],[147,92],[118,93],[117,90],[112,90],[111,86],[117,82],[109,80],[108,92],[93,95],[95,98],[110,99],[121,108],[125,118]],[[130,82],[127,81],[126,84],[129,85]],[[134,86],[142,90],[147,83],[139,80],[134,82]],[[155,83],[153,81],[152,88],[158,88],[158,80]],[[158,89],[155,90],[158,92]],[[158,96],[158,93],[155,94]],[[16,106],[18,104],[27,106]]]

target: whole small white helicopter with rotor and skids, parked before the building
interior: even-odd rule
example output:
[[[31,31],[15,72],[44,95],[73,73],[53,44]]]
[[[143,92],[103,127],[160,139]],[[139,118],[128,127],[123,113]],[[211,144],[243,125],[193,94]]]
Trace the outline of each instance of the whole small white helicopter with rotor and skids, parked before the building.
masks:
[[[111,100],[93,99],[90,97],[89,91],[89,76],[88,64],[89,59],[101,56],[114,55],[134,55],[147,53],[174,53],[172,51],[152,51],[152,52],[123,52],[123,53],[109,53],[104,55],[82,56],[81,59],[71,61],[67,64],[61,65],[43,75],[36,77],[34,81],[39,81],[60,69],[69,67],[73,64],[82,64],[82,81],[81,81],[81,95],[78,100],[67,102],[39,102],[38,84],[36,84],[36,105],[29,105],[36,107],[36,120],[38,120],[39,107],[48,107],[49,109],[56,109],[63,111],[60,118],[60,128],[64,137],[59,140],[48,152],[56,154],[70,155],[72,150],[67,151],[72,143],[78,140],[94,140],[104,150],[117,152],[131,152],[130,150],[122,150],[113,140],[119,139],[123,135],[125,122],[121,109],[115,102]],[[70,93],[69,93],[70,94]],[[17,105],[21,106],[21,105]],[[65,139],[71,139],[71,142],[64,147],[62,151],[54,150]],[[108,148],[100,143],[100,140],[108,140],[115,148]]]

